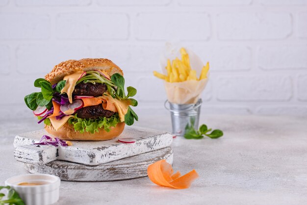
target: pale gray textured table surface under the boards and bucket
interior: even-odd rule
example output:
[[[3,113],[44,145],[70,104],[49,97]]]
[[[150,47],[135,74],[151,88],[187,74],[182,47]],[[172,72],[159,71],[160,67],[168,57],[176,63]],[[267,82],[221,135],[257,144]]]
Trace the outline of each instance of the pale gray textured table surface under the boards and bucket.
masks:
[[[137,126],[170,130],[169,116],[144,116]],[[148,123],[151,122],[151,123]],[[307,204],[307,118],[203,116],[220,139],[173,142],[174,170],[196,169],[191,188],[159,187],[147,177],[112,182],[62,181],[57,205]],[[17,133],[39,129],[34,119],[0,121],[0,181],[25,174],[13,158]]]

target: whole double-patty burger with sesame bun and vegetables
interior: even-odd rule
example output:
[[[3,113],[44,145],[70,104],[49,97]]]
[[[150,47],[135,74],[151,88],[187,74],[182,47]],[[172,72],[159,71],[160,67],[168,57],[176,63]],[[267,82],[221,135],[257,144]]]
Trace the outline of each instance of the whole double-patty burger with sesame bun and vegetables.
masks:
[[[136,89],[125,90],[123,71],[105,58],[67,60],[34,86],[41,92],[25,97],[28,108],[48,133],[64,140],[109,140],[138,120]]]

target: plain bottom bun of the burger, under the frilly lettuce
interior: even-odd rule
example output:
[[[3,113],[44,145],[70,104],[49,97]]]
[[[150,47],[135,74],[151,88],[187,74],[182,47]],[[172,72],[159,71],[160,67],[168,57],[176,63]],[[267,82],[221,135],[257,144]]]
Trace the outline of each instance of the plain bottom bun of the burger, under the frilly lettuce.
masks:
[[[103,140],[109,140],[114,139],[117,136],[119,136],[125,128],[125,123],[118,123],[115,128],[111,128],[109,132],[105,131],[103,128],[99,128],[98,132],[95,132],[94,134],[90,132],[83,132],[80,133],[78,131],[75,131],[74,127],[72,125],[69,125],[68,123],[65,123],[62,128],[59,130],[55,130],[52,125],[45,126],[45,130],[64,140],[89,140],[89,141],[103,141]]]

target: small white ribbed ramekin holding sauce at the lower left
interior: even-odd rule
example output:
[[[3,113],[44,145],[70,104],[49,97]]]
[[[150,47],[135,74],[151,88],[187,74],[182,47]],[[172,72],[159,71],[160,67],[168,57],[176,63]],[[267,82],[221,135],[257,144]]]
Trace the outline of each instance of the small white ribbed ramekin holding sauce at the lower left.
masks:
[[[18,185],[23,182],[42,185]],[[58,201],[61,179],[46,174],[26,174],[6,179],[5,185],[15,189],[26,205],[51,205]]]

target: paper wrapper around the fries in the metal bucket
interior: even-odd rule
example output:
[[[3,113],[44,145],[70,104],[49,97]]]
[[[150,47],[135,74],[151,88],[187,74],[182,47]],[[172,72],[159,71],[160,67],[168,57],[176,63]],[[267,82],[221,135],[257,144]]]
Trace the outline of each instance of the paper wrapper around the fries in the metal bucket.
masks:
[[[170,43],[165,45],[165,50],[160,57],[160,67],[163,74],[167,75],[167,70],[165,69],[167,59],[171,61],[176,57],[181,59],[180,48],[181,47],[174,46]],[[186,48],[185,51],[189,54],[191,68],[196,70],[197,76],[199,77],[205,64],[193,51]],[[207,74],[207,78],[200,81],[186,80],[183,82],[164,82],[168,101],[176,104],[197,103],[200,95],[205,89],[208,77],[209,73]]]

